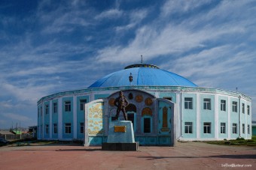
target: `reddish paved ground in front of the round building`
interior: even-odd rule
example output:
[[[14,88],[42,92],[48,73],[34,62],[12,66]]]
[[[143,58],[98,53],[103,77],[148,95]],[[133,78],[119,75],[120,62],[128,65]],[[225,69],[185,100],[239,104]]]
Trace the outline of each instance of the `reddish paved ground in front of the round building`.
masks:
[[[227,169],[228,166],[256,169],[256,148],[202,142],[178,142],[175,147],[139,147],[139,151],[127,152],[101,151],[100,147],[81,145],[0,148],[0,169],[183,170]]]

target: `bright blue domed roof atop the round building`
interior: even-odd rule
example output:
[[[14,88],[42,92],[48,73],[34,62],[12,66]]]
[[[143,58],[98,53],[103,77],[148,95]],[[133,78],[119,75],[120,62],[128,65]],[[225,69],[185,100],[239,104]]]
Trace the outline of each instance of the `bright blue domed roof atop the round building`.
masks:
[[[129,77],[133,76],[133,82]],[[161,70],[152,64],[132,64],[107,76],[98,79],[89,88],[120,87],[129,85],[148,86],[188,86],[197,87],[193,82],[178,74]]]

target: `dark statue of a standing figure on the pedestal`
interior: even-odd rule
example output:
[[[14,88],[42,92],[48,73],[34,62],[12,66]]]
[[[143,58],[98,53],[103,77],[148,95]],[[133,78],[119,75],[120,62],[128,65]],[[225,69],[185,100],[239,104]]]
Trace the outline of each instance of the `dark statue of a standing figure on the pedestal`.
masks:
[[[123,96],[123,91],[120,91],[120,96],[114,100],[114,106],[117,106],[117,115],[115,115],[115,120],[118,119],[120,111],[123,112],[123,118],[127,121],[127,115],[125,108],[129,105],[129,102],[126,100],[126,98]]]

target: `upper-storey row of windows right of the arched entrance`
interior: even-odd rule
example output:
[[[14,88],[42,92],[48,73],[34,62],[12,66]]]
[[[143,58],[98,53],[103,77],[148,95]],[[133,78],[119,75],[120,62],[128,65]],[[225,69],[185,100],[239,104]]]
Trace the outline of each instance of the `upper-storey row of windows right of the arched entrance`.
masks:
[[[226,111],[227,105],[226,100],[221,100],[221,111]],[[184,109],[193,109],[193,98],[184,97]],[[203,99],[203,109],[211,110],[211,99]],[[237,112],[237,102],[232,102],[232,111]],[[245,113],[245,103],[242,103],[242,113]],[[250,106],[247,106],[247,114],[250,115]]]

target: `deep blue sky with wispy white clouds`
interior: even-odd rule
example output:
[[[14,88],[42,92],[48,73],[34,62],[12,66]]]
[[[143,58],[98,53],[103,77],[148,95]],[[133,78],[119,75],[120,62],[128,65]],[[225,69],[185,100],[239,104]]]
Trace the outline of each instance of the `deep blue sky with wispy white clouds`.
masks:
[[[1,0],[0,128],[37,101],[143,61],[248,95],[256,120],[256,1]]]

